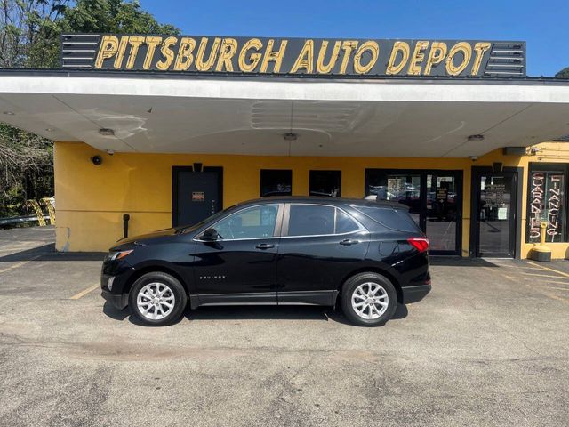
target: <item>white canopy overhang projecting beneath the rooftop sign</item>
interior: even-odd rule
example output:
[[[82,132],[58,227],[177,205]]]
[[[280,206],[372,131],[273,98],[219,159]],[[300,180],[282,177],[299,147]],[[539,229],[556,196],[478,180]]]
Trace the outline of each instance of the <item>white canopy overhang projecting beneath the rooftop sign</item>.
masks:
[[[0,121],[116,152],[469,157],[569,134],[569,82],[12,72]]]

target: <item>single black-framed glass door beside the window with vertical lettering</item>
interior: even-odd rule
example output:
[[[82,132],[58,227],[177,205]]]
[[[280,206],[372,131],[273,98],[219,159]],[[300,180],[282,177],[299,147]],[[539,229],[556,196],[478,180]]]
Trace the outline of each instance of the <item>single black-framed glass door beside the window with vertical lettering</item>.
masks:
[[[514,256],[516,191],[514,173],[480,175],[477,191],[477,256]]]

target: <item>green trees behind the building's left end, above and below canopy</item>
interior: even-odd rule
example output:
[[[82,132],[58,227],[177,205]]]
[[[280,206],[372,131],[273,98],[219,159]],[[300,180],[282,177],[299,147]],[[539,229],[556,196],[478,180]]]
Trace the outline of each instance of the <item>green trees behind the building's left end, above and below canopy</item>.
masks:
[[[0,68],[59,68],[63,33],[180,34],[138,1],[0,0]],[[53,195],[53,144],[0,124],[0,217]]]

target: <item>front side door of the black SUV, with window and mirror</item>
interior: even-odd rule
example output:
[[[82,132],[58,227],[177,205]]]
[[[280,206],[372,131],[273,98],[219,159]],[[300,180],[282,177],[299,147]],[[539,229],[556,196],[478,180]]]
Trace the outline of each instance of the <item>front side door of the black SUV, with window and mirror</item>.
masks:
[[[219,238],[196,238],[194,278],[200,303],[276,303],[282,204],[252,205],[215,222]]]

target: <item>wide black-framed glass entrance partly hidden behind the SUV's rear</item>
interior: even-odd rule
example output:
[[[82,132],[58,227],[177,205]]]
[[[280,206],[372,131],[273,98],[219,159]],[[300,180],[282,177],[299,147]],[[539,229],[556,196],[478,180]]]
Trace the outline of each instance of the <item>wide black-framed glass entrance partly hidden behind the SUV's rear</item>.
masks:
[[[366,169],[365,195],[409,207],[427,234],[431,254],[461,254],[460,171]]]

